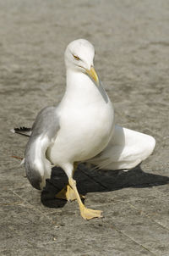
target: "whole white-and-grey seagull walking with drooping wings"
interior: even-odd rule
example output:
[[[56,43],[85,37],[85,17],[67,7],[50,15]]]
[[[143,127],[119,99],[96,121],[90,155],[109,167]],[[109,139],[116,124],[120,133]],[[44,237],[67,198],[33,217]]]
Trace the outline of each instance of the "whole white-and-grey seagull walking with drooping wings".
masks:
[[[85,220],[101,218],[102,212],[87,209],[82,203],[73,178],[77,165],[127,171],[147,159],[155,148],[153,136],[114,124],[112,103],[95,71],[94,57],[95,49],[85,39],[69,43],[64,54],[67,86],[61,103],[42,109],[32,128],[11,130],[29,137],[22,164],[30,184],[43,189],[52,167],[63,168],[68,185],[56,197],[77,199]]]

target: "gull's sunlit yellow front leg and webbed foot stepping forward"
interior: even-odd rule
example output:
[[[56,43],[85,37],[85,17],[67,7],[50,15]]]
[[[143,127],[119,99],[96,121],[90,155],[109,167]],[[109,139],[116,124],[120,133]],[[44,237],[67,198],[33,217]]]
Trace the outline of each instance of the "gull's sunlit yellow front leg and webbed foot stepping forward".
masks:
[[[82,203],[80,197],[79,197],[79,192],[77,190],[76,187],[76,181],[74,181],[73,178],[69,178],[68,179],[68,183],[69,185],[72,187],[72,189],[74,190],[74,194],[78,200],[79,203],[79,210],[80,210],[80,214],[81,216],[85,219],[85,220],[90,220],[93,218],[101,218],[101,211],[100,210],[94,210],[94,209],[87,209],[84,205],[84,203]]]

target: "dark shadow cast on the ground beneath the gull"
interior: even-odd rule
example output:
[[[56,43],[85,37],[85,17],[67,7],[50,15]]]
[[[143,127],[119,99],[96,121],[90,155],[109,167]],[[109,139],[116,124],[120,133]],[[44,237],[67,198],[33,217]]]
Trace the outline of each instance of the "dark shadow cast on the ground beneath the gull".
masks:
[[[151,187],[169,183],[169,177],[144,172],[140,165],[132,170],[95,170],[79,164],[74,174],[80,194],[88,192],[111,192],[125,187]],[[61,208],[66,200],[56,198],[57,192],[68,183],[68,177],[61,168],[52,169],[52,177],[46,180],[41,192],[41,203],[48,208]]]

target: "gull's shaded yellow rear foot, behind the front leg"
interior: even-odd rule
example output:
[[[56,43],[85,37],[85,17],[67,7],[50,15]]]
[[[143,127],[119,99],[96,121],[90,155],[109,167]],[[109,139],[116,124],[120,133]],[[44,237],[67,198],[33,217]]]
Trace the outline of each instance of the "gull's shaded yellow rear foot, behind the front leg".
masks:
[[[63,189],[60,192],[57,193],[56,198],[64,199],[67,201],[74,201],[76,200],[76,195],[72,187],[69,185],[66,185],[63,187]],[[80,198],[85,199],[85,196],[80,195]]]

